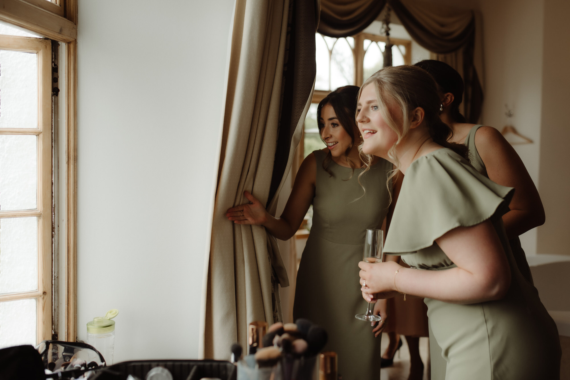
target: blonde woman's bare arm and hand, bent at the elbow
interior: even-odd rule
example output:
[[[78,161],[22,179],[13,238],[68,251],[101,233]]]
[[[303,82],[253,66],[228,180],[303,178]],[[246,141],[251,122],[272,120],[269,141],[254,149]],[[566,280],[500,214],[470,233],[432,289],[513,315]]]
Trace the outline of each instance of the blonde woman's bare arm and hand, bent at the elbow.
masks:
[[[457,304],[504,297],[511,282],[510,266],[490,221],[455,228],[436,242],[457,268],[418,270],[396,262],[361,261],[360,277],[367,285],[363,297],[370,300],[374,293],[397,291]]]

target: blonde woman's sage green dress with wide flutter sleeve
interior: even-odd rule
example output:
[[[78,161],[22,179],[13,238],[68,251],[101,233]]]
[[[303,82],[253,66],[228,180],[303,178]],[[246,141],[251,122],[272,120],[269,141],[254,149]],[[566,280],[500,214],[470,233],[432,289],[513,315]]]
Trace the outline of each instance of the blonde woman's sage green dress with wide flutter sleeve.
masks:
[[[447,362],[447,380],[560,377],[556,325],[536,288],[520,273],[504,232],[502,215],[513,191],[447,148],[420,157],[404,176],[385,253],[401,255],[417,270],[454,268],[435,239],[456,227],[490,220],[511,269],[511,285],[502,300],[457,305],[425,298],[430,327]]]

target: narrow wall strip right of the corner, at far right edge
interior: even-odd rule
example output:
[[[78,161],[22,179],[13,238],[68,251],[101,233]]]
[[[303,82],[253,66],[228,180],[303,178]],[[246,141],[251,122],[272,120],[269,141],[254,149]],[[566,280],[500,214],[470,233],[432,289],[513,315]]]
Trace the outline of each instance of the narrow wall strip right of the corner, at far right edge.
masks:
[[[539,253],[570,254],[570,2],[544,0],[539,191],[546,223],[538,228]]]

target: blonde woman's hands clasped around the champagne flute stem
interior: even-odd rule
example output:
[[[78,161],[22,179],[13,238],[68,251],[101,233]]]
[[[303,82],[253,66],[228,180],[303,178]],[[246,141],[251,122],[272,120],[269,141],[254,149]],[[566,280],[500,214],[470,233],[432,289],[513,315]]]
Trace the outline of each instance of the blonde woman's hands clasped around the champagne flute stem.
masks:
[[[397,290],[394,289],[394,276],[396,270],[404,268],[403,266],[394,261],[375,264],[360,261],[358,266],[360,268],[360,285],[362,285],[360,290],[365,300],[374,302],[378,299],[392,298],[398,294]]]

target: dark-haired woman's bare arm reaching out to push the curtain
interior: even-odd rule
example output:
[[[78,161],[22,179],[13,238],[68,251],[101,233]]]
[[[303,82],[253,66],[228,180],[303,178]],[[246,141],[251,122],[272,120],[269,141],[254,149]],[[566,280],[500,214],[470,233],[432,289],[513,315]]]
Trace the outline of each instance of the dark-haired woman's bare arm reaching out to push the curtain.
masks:
[[[297,172],[291,195],[280,217],[271,216],[249,192],[245,192],[245,196],[251,203],[228,209],[226,217],[237,224],[263,225],[271,235],[280,240],[288,240],[299,229],[315,197],[315,182],[316,160],[311,153],[303,160]]]

